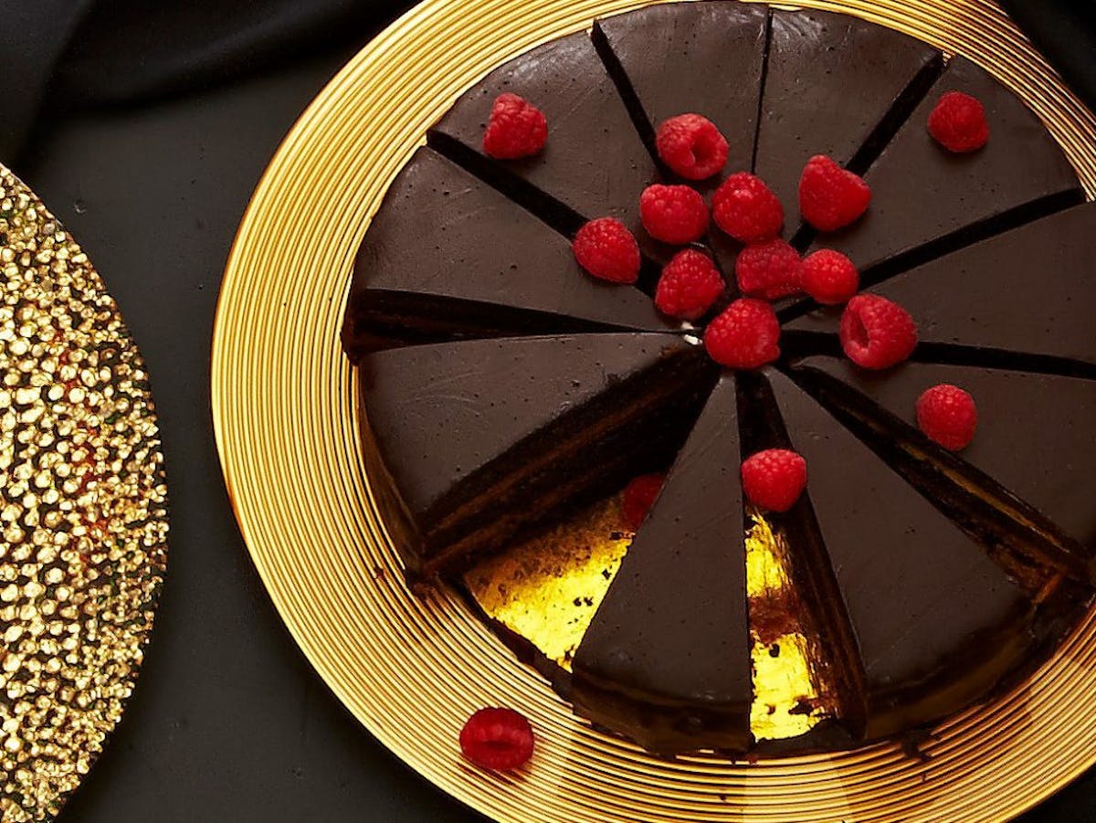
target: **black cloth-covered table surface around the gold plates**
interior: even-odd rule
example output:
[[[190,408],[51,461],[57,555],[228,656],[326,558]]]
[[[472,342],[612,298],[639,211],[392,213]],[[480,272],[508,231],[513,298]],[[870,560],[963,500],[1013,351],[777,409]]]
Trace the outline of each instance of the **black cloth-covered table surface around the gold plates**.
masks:
[[[1093,4],[1003,2],[1092,106]],[[248,198],[300,111],[407,5],[0,0],[0,161],[122,307],[153,377],[172,507],[138,688],[62,823],[482,820],[377,744],[305,662],[236,529],[209,419],[217,289]],[[1021,820],[1096,820],[1096,773]]]

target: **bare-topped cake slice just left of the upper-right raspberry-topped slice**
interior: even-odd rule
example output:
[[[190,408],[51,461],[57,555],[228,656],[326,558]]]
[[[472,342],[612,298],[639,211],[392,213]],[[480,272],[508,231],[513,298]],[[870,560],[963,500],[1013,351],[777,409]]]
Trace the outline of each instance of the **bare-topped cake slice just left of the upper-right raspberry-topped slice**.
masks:
[[[754,173],[784,204],[786,237],[801,221],[807,161],[814,155],[845,167],[870,160],[941,66],[932,46],[858,18],[773,11]]]

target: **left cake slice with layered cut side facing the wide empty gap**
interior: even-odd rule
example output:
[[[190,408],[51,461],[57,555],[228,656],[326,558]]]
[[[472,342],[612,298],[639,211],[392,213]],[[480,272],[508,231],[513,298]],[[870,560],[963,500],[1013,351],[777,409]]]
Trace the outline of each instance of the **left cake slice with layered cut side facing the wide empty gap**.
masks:
[[[366,468],[412,578],[667,459],[715,380],[700,346],[641,332],[404,346],[358,369]]]

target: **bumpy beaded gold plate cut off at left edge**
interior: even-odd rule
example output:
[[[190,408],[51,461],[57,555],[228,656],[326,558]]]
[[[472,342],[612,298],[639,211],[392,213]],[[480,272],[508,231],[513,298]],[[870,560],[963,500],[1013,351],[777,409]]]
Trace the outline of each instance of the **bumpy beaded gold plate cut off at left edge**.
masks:
[[[122,718],[167,560],[145,365],[87,254],[0,168],[0,819],[52,820]]]

